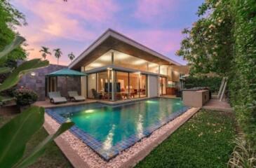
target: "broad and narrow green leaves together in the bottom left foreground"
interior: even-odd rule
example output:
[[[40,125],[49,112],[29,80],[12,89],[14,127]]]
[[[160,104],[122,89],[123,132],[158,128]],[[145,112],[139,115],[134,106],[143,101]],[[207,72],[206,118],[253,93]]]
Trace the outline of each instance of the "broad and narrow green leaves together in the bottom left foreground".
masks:
[[[44,109],[32,106],[6,123],[0,129],[0,167],[27,167],[43,154],[46,145],[74,123],[64,123],[55,134],[42,141],[28,155],[24,156],[26,144],[44,123]]]

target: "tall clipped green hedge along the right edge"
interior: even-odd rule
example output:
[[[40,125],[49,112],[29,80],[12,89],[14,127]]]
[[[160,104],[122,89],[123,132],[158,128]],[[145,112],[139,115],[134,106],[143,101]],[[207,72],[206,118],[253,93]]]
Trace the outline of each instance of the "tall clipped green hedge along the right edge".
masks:
[[[239,125],[256,146],[256,3],[255,0],[230,1],[234,16],[230,99]]]

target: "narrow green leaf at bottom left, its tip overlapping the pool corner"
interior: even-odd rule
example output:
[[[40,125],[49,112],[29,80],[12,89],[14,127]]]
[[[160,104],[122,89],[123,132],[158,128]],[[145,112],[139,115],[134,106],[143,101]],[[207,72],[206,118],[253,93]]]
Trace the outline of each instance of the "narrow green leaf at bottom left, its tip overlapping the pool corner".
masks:
[[[55,134],[49,135],[46,139],[44,139],[41,144],[36,146],[32,153],[30,153],[26,158],[22,159],[20,162],[18,162],[17,165],[15,165],[15,168],[22,168],[22,167],[28,167],[29,165],[32,165],[34,162],[36,162],[36,159],[39,158],[45,151],[46,146],[50,141],[53,141],[56,137],[58,137],[60,134],[68,130],[70,127],[72,127],[74,123],[63,123],[59,130],[55,132]]]

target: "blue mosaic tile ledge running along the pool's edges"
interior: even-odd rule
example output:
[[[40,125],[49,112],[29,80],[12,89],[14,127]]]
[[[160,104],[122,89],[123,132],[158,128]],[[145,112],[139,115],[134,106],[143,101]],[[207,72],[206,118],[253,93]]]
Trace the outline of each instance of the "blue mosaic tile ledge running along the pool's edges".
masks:
[[[87,106],[87,107],[86,107]],[[70,111],[81,111],[82,109],[92,109],[92,108],[101,108],[102,106],[106,106],[105,104],[88,104],[88,105],[80,105],[80,106],[72,106],[67,107],[65,111],[58,111],[55,113],[53,109],[46,109],[46,113],[48,113],[49,116],[51,116],[53,119],[55,119],[58,123],[65,123],[66,118],[62,117],[62,115],[67,115],[70,113]],[[109,106],[109,105],[108,105]],[[120,105],[116,105],[120,106]],[[148,137],[154,130],[157,130],[162,125],[165,125],[170,120],[173,120],[174,118],[177,118],[177,116],[180,116],[182,113],[187,111],[190,107],[184,106],[182,109],[176,111],[175,113],[170,114],[168,117],[166,117],[163,120],[157,119],[154,125],[151,125],[150,127],[144,128],[142,132],[142,137],[137,137],[136,134],[131,135],[127,139],[123,139],[123,141],[117,143],[115,146],[112,146],[108,151],[105,151],[102,146],[102,142],[95,139],[94,137],[90,136],[90,134],[87,134],[83,130],[79,129],[79,127],[76,127],[74,125],[72,128],[70,128],[70,132],[74,134],[76,137],[81,139],[87,146],[93,149],[98,155],[100,155],[101,158],[105,160],[110,160],[114,158],[116,155],[121,153],[121,151],[125,150],[126,148],[129,148],[130,146],[133,146],[137,141],[140,141],[143,137]]]

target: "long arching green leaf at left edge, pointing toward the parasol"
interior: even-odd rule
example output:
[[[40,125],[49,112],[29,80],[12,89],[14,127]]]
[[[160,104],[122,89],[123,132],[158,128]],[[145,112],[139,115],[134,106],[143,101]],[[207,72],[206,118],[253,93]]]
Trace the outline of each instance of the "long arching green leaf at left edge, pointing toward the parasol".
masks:
[[[48,64],[49,62],[47,60],[42,61],[41,59],[31,59],[20,64],[20,66],[18,66],[18,68],[15,69],[13,73],[6,78],[6,80],[4,80],[4,83],[0,85],[0,92],[16,85],[20,77],[25,73],[43,66],[48,66]]]

